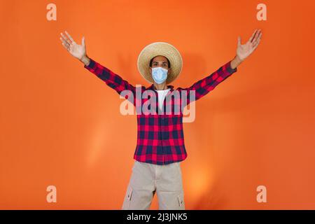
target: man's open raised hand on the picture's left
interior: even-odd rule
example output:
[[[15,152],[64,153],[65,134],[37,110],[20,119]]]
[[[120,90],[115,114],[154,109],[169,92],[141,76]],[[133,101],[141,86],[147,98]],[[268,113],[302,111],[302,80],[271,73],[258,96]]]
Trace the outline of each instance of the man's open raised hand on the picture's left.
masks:
[[[62,45],[64,46],[64,48],[66,48],[66,50],[68,50],[68,52],[73,57],[82,59],[83,56],[86,55],[85,37],[83,36],[82,43],[81,45],[79,45],[78,43],[76,43],[76,41],[73,41],[73,38],[70,36],[70,34],[68,34],[67,31],[66,31],[66,35],[67,36],[61,33],[62,37],[60,37],[60,40],[62,41]]]

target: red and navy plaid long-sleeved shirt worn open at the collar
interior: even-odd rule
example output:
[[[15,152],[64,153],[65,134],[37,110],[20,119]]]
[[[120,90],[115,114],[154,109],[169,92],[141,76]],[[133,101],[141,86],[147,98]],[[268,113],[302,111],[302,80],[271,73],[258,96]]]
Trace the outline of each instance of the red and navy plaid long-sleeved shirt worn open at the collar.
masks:
[[[200,99],[213,90],[218,83],[221,83],[237,71],[237,68],[231,68],[230,62],[224,64],[209,76],[198,80],[190,87],[177,87],[174,89],[173,85],[167,85],[170,90],[167,92],[162,110],[158,106],[158,92],[155,91],[153,84],[149,87],[134,87],[127,80],[124,80],[118,74],[95,62],[93,59],[90,59],[90,64],[84,67],[136,106],[138,130],[134,159],[155,165],[167,165],[187,158],[183,137],[183,106]],[[175,95],[174,92],[179,93],[180,97],[172,97]],[[137,97],[139,93],[141,95]],[[148,97],[152,95],[155,95],[155,98],[152,98],[155,101],[151,101],[151,97]],[[195,96],[195,99],[190,98],[190,96]],[[179,105],[181,106],[179,113],[172,112]],[[148,108],[148,110],[156,113],[141,111],[144,108]],[[169,111],[170,109],[172,109],[171,112]]]

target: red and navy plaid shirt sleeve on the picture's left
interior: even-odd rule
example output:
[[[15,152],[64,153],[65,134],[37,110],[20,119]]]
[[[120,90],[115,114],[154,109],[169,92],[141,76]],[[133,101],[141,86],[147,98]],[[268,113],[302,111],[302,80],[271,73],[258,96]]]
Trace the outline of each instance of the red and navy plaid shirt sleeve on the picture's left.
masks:
[[[123,90],[125,91],[123,97],[128,99],[132,104],[135,103],[134,96],[136,96],[136,87],[134,85],[128,83],[127,80],[124,80],[118,74],[114,73],[110,69],[106,68],[106,66],[102,66],[98,62],[94,61],[94,59],[90,58],[90,64],[84,65],[85,69],[94,73],[98,78],[102,79],[106,85],[116,90],[118,94],[121,94]]]

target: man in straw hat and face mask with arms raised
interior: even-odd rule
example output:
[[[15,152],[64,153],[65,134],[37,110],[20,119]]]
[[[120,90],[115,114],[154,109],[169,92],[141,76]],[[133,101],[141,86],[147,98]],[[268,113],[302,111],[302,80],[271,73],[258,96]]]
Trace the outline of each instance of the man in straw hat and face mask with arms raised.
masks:
[[[187,158],[183,139],[183,111],[175,113],[175,108],[204,97],[218,83],[235,73],[237,66],[258,47],[262,36],[260,29],[255,29],[243,45],[238,37],[234,59],[190,87],[176,89],[168,84],[179,76],[183,63],[179,51],[169,43],[151,43],[141,51],[138,69],[152,84],[149,87],[134,87],[118,74],[87,57],[84,37],[81,45],[78,45],[67,32],[66,35],[61,34],[60,37],[64,48],[83,62],[85,69],[104,80],[137,108],[136,161],[122,209],[149,209],[155,192],[159,209],[185,209],[180,166],[180,162]],[[139,99],[137,90],[146,97]]]

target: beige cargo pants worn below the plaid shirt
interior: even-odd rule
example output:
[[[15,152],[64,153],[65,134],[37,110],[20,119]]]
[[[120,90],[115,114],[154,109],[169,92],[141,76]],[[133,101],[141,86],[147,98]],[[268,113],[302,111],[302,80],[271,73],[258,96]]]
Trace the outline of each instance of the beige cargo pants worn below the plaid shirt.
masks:
[[[155,192],[160,210],[185,210],[180,162],[154,165],[135,160],[122,209],[149,209]]]

